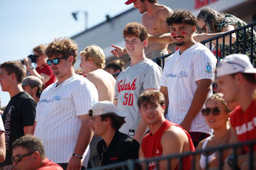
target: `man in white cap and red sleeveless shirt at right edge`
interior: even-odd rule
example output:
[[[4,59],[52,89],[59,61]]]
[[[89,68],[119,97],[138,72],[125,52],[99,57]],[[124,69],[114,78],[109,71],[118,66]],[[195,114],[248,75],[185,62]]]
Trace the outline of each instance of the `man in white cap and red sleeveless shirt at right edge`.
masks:
[[[218,91],[224,94],[227,103],[237,102],[230,116],[230,143],[245,142],[256,139],[256,101],[252,94],[256,89],[256,69],[249,57],[243,54],[232,54],[223,58],[216,68]],[[245,154],[244,154],[245,153]],[[253,147],[254,168],[256,168],[256,145]],[[249,169],[249,147],[237,150],[237,161],[233,149],[230,150],[224,169]]]

